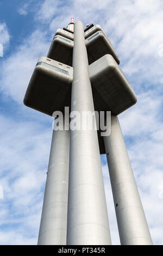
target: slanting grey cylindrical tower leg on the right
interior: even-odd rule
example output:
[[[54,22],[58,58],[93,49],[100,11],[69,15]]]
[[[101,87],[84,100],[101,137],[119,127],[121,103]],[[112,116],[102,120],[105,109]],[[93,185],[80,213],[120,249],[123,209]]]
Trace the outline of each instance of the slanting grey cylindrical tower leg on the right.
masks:
[[[122,245],[152,245],[133,170],[118,118],[111,116],[111,135],[104,137],[118,230]]]

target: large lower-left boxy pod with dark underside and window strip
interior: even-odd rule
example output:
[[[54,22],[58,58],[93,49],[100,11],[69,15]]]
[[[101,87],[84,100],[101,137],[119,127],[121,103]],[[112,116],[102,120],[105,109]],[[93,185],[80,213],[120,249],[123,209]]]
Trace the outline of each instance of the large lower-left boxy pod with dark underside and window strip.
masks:
[[[49,61],[46,57],[41,57],[38,60],[40,62],[51,66],[36,65],[24,96],[24,104],[48,115],[54,111],[64,111],[64,107],[70,105],[73,69],[55,60]]]

